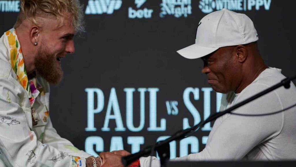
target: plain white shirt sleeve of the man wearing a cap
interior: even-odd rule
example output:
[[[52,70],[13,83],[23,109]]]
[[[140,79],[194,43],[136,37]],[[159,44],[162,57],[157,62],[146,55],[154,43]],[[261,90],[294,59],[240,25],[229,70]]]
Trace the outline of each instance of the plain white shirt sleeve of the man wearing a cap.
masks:
[[[264,84],[252,84],[241,92],[235,103],[268,88]],[[255,90],[255,91],[254,91]],[[239,114],[266,114],[283,109],[278,94],[273,91],[235,111]],[[205,149],[172,160],[240,160],[258,144],[276,137],[283,127],[283,113],[269,116],[239,116],[226,114],[218,118],[210,132]],[[150,161],[151,158],[151,161]],[[141,157],[141,167],[158,167],[155,157]]]

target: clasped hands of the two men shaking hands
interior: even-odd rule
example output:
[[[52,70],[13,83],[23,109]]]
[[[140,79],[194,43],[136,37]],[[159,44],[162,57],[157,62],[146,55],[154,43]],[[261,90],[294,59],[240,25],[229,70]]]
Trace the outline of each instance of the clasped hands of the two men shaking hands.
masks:
[[[99,157],[86,158],[86,167],[124,167],[121,163],[121,158],[130,154],[125,150],[101,152]]]

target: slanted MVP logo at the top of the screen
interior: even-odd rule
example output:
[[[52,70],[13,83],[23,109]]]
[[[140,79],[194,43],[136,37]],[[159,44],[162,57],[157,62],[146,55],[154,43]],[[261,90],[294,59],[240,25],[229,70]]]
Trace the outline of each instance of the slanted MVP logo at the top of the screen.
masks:
[[[86,6],[85,14],[112,14],[114,10],[118,10],[121,7],[121,0],[89,0],[89,4]]]

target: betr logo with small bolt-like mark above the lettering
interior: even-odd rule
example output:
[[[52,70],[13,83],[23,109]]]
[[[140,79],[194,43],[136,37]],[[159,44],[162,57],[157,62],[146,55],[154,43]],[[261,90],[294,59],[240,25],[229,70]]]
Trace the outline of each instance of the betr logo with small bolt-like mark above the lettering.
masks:
[[[135,0],[135,4],[137,8],[140,8],[146,0]],[[151,18],[152,17],[152,9],[144,8],[134,10],[132,7],[128,8],[128,18]]]

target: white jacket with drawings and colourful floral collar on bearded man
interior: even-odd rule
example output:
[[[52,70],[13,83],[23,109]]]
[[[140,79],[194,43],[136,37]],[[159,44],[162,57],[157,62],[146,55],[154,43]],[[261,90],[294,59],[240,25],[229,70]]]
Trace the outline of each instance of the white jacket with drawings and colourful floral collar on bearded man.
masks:
[[[39,121],[33,126],[31,108]],[[28,81],[15,29],[0,38],[0,166],[85,167],[91,155],[61,138],[49,117],[49,84]]]

